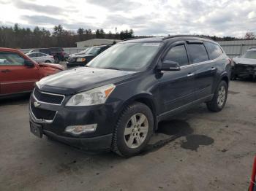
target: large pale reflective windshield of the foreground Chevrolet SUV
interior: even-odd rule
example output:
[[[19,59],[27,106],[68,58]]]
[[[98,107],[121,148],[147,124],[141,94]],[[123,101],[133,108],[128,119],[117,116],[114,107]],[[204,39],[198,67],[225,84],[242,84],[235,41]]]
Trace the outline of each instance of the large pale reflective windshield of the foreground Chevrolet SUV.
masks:
[[[160,42],[120,43],[98,55],[87,66],[101,69],[140,71],[157,54]]]

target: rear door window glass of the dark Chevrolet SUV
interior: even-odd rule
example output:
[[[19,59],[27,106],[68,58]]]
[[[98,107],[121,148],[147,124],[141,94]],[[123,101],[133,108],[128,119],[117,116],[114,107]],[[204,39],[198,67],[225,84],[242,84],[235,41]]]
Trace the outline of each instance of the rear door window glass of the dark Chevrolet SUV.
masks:
[[[206,52],[206,47],[203,44],[187,44],[189,47],[189,55],[192,63],[200,63],[203,61],[208,61],[208,55]]]

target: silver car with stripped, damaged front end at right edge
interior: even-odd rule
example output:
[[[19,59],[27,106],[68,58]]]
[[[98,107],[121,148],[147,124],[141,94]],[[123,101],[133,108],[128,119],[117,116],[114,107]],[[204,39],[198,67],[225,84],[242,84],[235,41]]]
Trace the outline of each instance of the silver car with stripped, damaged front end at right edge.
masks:
[[[247,50],[240,58],[233,58],[231,79],[237,77],[256,79],[256,47]]]

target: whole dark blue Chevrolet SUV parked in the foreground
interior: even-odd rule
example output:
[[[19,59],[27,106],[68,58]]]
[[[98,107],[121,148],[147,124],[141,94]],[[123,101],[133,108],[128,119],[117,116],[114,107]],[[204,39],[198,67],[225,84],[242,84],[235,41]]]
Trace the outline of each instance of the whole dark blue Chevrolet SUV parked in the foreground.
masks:
[[[45,77],[30,98],[30,127],[87,150],[137,155],[159,121],[206,103],[225,106],[230,59],[195,36],[132,39],[113,45],[87,67]]]

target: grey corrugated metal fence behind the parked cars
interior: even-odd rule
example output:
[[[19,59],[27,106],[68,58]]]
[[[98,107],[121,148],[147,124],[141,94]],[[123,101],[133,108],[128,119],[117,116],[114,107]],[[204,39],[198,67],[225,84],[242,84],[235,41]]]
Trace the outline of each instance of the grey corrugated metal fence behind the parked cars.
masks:
[[[225,50],[226,54],[230,58],[233,58],[238,55],[243,55],[244,52],[246,52],[246,50],[248,50],[250,47],[256,47],[256,40],[221,41],[219,44],[223,50]],[[64,47],[63,49],[67,54],[70,55],[85,50],[86,47]],[[29,52],[29,50],[31,49],[21,49],[21,51],[24,53]]]

